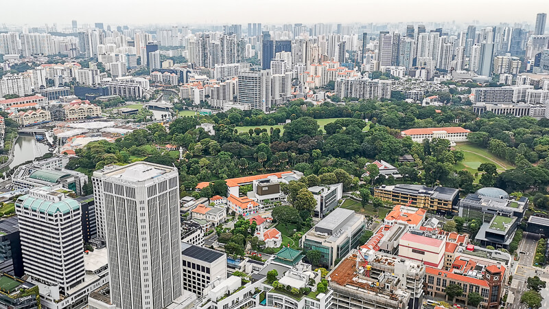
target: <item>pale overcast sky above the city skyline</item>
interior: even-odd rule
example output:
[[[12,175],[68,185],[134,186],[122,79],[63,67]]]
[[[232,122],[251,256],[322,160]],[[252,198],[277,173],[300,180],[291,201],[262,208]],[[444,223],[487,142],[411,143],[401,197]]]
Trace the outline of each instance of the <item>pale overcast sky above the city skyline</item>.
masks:
[[[0,24],[535,23],[548,0],[0,0]]]

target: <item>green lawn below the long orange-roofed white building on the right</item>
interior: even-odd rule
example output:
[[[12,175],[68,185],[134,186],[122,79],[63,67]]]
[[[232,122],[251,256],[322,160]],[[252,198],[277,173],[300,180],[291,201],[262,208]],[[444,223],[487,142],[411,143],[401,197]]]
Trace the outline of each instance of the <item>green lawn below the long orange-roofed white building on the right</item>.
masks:
[[[471,174],[475,174],[478,172],[480,164],[487,162],[494,163],[495,167],[498,168],[498,172],[513,168],[513,165],[502,159],[496,158],[488,152],[488,150],[476,145],[457,144],[454,148],[463,151],[463,155],[465,155],[465,159],[455,165],[456,170],[468,170]],[[478,179],[480,179],[480,176],[477,177],[476,181],[478,181]]]

